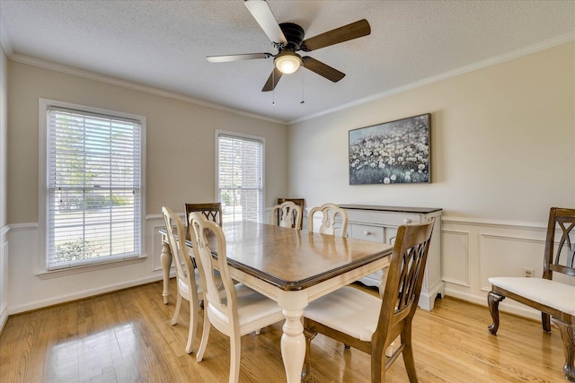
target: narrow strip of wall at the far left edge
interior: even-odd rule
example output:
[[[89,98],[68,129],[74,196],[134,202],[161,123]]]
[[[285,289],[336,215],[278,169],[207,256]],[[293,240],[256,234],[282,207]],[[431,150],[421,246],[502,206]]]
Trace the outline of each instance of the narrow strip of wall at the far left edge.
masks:
[[[6,232],[7,176],[7,60],[0,46],[0,331],[8,318],[8,242]]]

